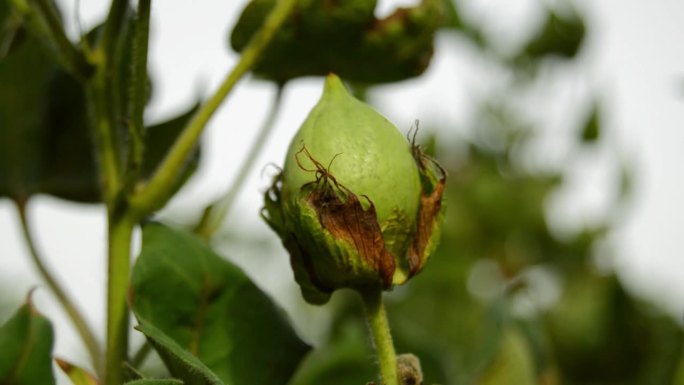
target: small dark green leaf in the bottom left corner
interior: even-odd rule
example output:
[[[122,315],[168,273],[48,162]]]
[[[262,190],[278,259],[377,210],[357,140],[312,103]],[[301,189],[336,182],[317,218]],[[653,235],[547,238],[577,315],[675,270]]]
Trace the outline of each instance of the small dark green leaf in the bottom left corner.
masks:
[[[28,303],[0,327],[0,384],[52,385],[52,325]]]

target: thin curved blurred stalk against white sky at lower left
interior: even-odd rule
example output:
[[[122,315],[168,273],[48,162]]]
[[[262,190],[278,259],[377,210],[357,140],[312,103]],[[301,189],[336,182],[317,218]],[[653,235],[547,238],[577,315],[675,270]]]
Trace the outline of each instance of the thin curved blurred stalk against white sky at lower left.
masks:
[[[81,337],[81,340],[83,340],[83,344],[88,350],[88,354],[90,355],[90,359],[93,363],[95,371],[101,373],[102,351],[100,348],[100,344],[97,342],[97,339],[95,338],[95,333],[93,333],[92,329],[86,322],[85,317],[83,317],[83,315],[78,311],[76,304],[71,300],[71,298],[69,298],[66,291],[62,288],[59,282],[57,282],[57,279],[52,275],[50,270],[48,270],[47,266],[43,262],[43,258],[38,252],[35,240],[33,239],[31,226],[29,225],[27,214],[27,202],[17,202],[17,211],[19,213],[19,221],[21,222],[21,230],[24,236],[24,240],[29,248],[33,264],[38,269],[38,272],[40,273],[45,283],[47,283],[50,290],[52,290],[52,293],[55,295],[55,297],[57,297],[57,301],[59,301],[59,304],[66,312],[69,319],[71,319],[73,326],[76,328],[76,331]]]

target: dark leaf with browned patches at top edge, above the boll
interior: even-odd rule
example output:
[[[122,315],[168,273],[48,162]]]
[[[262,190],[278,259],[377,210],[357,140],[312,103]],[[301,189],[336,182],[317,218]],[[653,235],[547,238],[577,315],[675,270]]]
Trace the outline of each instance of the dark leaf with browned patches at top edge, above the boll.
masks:
[[[377,1],[302,1],[267,48],[254,72],[276,82],[338,74],[361,83],[394,82],[418,76],[430,63],[442,24],[444,0],[423,0],[376,19]],[[242,51],[275,0],[253,0],[242,12],[230,42]]]

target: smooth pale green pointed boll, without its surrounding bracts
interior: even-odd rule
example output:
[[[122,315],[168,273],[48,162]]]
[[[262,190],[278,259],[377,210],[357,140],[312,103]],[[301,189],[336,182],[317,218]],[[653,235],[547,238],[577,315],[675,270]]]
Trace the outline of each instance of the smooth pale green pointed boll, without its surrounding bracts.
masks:
[[[291,189],[314,177],[311,159],[297,155],[303,146],[339,183],[368,196],[378,221],[395,210],[416,216],[420,176],[409,143],[387,118],[350,95],[337,76],[328,76],[321,100],[292,139],[284,174]]]

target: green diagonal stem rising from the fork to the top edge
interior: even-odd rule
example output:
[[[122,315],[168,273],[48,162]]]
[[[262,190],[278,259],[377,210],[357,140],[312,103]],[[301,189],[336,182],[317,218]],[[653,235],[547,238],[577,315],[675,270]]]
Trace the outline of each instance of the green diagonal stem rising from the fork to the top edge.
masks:
[[[228,73],[218,90],[190,120],[147,185],[143,186],[132,197],[131,205],[137,211],[151,213],[166,203],[172,193],[174,182],[180,175],[179,170],[183,169],[207,123],[214,116],[214,113],[238,80],[257,62],[261,53],[268,47],[276,32],[295,8],[297,1],[280,0],[277,2],[261,26],[261,29],[252,37],[252,40],[250,40],[242,52],[240,60],[232,71]]]

